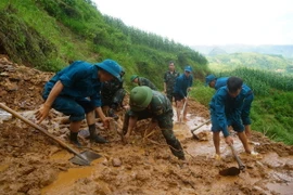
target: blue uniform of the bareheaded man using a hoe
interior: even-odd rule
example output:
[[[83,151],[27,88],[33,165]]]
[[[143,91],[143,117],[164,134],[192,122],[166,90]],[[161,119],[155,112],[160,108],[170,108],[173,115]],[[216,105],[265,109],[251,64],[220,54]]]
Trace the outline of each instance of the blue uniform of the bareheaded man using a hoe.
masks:
[[[244,101],[251,94],[252,90],[245,84],[235,98],[229,95],[227,86],[219,88],[209,102],[212,131],[222,131],[226,138],[229,135],[228,126],[232,126],[235,131],[243,132],[241,115]],[[249,109],[244,113],[249,115]]]

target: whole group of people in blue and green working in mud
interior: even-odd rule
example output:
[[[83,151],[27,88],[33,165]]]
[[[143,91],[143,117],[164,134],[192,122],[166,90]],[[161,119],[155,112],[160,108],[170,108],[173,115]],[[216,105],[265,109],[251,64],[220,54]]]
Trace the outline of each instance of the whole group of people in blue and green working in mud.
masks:
[[[127,140],[130,136],[138,120],[151,118],[149,129],[158,126],[171,153],[183,160],[182,146],[173,131],[173,102],[176,104],[179,120],[180,110],[187,103],[193,83],[191,73],[191,66],[186,66],[184,73],[179,74],[175,70],[174,62],[170,62],[168,72],[164,74],[164,93],[157,91],[149,79],[132,75],[130,81],[138,87],[130,91],[129,106],[124,106],[127,109],[123,121],[124,138]],[[51,108],[54,108],[69,116],[69,140],[76,146],[81,146],[78,131],[84,119],[87,120],[90,141],[107,143],[95,129],[95,118],[99,117],[105,128],[109,127],[110,120],[118,118],[115,112],[123,107],[126,93],[123,88],[124,75],[124,68],[113,60],[95,64],[73,62],[46,83],[42,93],[44,103],[36,113],[38,123],[49,115]],[[249,114],[253,101],[252,90],[238,77],[217,79],[209,75],[206,77],[206,83],[217,90],[209,104],[216,155],[220,155],[220,131],[227,144],[233,143],[228,131],[229,126],[238,132],[245,152],[251,153],[246,135],[251,133]],[[182,115],[187,120],[187,106],[184,107]]]

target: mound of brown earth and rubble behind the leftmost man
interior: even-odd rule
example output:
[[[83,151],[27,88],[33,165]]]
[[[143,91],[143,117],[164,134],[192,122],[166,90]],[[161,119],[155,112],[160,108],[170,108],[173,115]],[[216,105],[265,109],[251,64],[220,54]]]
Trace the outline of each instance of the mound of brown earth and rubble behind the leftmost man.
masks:
[[[41,92],[52,75],[0,56],[0,102],[14,109],[34,109],[43,102]]]

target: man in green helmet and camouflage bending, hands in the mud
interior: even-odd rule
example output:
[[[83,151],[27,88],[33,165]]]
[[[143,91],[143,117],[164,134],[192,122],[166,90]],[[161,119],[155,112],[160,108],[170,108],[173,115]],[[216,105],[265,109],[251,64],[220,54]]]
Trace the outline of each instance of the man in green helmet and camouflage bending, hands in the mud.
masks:
[[[130,136],[138,120],[152,118],[152,123],[157,123],[161,128],[171,153],[183,160],[183,150],[173,132],[173,106],[168,98],[149,87],[136,87],[130,92],[129,105],[123,126],[125,139]]]

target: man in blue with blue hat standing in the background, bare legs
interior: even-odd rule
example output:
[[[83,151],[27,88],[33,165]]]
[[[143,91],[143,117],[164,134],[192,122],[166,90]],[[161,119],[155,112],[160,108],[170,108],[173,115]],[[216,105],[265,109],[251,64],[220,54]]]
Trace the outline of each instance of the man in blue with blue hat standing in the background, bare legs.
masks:
[[[191,90],[191,86],[193,83],[193,77],[191,75],[191,72],[192,72],[192,68],[190,66],[186,66],[184,73],[181,74],[176,79],[176,83],[174,88],[174,98],[176,102],[178,121],[180,120],[180,110],[182,109],[182,106],[188,99],[187,94]],[[183,120],[187,120],[187,110],[188,110],[188,104],[186,104],[186,109],[183,112]]]

